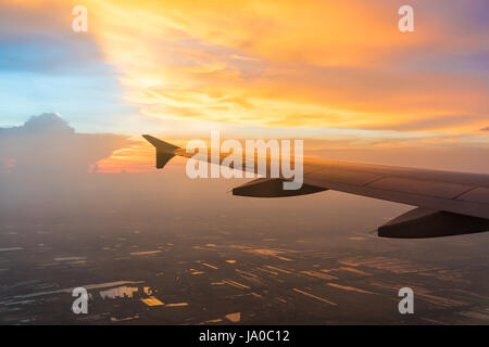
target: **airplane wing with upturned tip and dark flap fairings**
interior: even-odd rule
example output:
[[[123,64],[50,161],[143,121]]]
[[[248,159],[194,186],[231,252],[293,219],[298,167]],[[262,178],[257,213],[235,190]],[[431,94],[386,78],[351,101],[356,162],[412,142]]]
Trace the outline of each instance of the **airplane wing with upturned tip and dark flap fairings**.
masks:
[[[185,150],[150,136],[156,167]],[[226,155],[220,157],[218,163]],[[209,156],[210,158],[210,156]],[[210,160],[210,159],[209,159]],[[423,239],[489,231],[489,175],[304,159],[303,185],[283,190],[280,178],[259,178],[233,190],[234,195],[281,197],[325,190],[416,206],[378,228],[384,237]]]

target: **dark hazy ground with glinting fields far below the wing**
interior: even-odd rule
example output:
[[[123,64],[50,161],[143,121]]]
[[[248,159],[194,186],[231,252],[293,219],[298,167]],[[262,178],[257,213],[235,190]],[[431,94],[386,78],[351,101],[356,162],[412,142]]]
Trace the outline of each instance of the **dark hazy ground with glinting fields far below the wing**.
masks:
[[[2,224],[0,322],[489,322],[488,256],[471,250],[487,246],[485,234],[421,243],[318,233],[291,216],[236,217],[106,211]],[[77,286],[90,295],[88,314],[71,311]],[[398,311],[403,286],[414,290],[414,314]]]

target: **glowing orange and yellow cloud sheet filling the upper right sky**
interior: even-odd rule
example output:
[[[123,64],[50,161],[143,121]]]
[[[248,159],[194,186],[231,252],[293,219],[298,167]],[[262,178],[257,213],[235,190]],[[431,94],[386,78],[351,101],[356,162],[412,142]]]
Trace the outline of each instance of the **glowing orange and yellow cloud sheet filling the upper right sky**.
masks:
[[[416,2],[411,34],[398,30],[397,0],[85,4],[124,100],[162,124],[454,134],[487,127],[488,33],[469,12],[484,9],[478,0]]]

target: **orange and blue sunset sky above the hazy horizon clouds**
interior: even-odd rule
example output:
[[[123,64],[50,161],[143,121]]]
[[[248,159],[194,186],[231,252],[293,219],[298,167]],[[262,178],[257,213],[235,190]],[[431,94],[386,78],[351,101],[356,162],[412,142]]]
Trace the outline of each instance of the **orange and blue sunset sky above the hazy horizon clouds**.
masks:
[[[0,127],[487,147],[488,37],[485,0],[1,0]]]

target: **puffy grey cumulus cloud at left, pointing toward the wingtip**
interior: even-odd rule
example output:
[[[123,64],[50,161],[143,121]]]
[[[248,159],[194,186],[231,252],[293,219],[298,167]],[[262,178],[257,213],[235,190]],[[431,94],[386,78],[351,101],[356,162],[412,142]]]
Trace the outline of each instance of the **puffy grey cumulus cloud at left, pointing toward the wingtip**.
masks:
[[[63,180],[86,174],[128,143],[118,134],[77,133],[59,114],[45,113],[22,126],[0,128],[0,163],[12,175]]]

